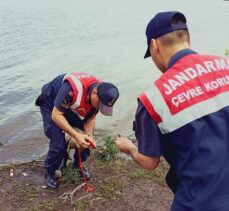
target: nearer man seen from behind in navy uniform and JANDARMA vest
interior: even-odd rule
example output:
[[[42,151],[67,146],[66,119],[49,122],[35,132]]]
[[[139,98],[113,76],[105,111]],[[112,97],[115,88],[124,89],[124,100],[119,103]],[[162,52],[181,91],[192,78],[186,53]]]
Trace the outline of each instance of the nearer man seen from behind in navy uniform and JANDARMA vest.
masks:
[[[135,135],[116,144],[145,169],[168,161],[172,211],[229,210],[229,60],[191,50],[186,18],[158,13],[146,28],[163,73],[138,98]]]

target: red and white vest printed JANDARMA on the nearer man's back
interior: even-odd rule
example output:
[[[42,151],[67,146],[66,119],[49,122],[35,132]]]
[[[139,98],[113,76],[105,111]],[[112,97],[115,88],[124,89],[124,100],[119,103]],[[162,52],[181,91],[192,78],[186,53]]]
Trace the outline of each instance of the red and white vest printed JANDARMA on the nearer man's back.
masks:
[[[176,84],[176,76],[191,68],[192,78],[183,74],[186,81],[181,83],[177,80]],[[194,70],[197,71],[195,78]],[[165,86],[169,80],[175,85],[169,87],[167,83]],[[179,129],[229,106],[229,60],[198,54],[186,56],[156,80],[139,99],[163,134]],[[174,103],[175,99],[177,103]]]

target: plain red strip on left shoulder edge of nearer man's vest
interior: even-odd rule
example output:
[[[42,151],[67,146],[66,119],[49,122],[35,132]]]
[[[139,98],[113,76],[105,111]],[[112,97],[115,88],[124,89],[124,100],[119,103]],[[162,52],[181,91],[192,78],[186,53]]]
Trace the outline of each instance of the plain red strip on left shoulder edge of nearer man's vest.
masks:
[[[145,106],[146,110],[149,112],[150,116],[153,118],[153,120],[159,124],[162,122],[162,119],[160,117],[160,115],[155,111],[153,105],[150,103],[149,99],[147,98],[147,96],[142,93],[139,96],[140,101],[142,102],[142,104]]]

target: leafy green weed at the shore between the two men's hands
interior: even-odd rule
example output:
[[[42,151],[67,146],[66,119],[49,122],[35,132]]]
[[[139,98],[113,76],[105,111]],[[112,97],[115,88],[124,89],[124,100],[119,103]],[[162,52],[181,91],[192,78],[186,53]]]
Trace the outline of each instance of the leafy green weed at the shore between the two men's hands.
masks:
[[[107,136],[104,139],[104,144],[95,151],[95,157],[101,161],[116,160],[118,155],[118,149],[112,136]]]

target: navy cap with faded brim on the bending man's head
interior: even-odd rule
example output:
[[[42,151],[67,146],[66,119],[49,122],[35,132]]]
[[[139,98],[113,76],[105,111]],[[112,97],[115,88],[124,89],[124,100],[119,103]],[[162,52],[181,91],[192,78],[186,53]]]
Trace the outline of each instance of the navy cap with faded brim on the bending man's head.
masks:
[[[118,88],[112,83],[102,82],[97,87],[99,110],[103,115],[112,116],[113,105],[119,97]]]

